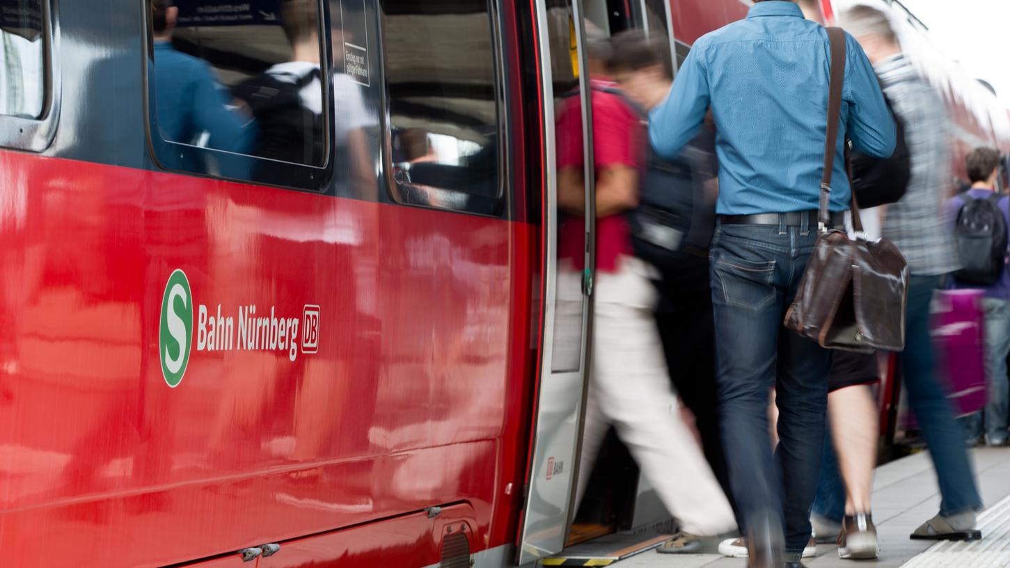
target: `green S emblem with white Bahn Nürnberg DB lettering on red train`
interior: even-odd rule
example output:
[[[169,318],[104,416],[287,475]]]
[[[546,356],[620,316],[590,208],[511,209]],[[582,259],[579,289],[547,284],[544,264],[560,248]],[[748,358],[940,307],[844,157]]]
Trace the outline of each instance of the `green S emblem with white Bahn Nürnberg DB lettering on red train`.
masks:
[[[298,335],[299,326],[301,337]],[[305,304],[301,319],[284,317],[276,305],[270,306],[270,311],[264,308],[258,313],[256,304],[238,306],[237,317],[222,316],[221,304],[211,311],[206,304],[194,302],[186,273],[176,269],[169,276],[162,296],[158,342],[162,375],[172,388],[179,386],[186,374],[190,355],[194,351],[194,333],[197,352],[280,351],[287,352],[288,359],[294,362],[298,357],[299,341],[302,353],[319,350],[319,306]]]

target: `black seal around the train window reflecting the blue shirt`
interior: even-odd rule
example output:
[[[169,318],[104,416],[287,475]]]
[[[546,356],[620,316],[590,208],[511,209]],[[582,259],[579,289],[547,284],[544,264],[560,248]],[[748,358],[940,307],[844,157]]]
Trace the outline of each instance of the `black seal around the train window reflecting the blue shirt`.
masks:
[[[258,156],[239,154],[212,148],[201,148],[188,144],[168,140],[162,136],[158,127],[158,112],[155,111],[156,87],[155,87],[155,43],[154,27],[150,10],[147,8],[149,0],[136,0],[141,5],[140,28],[143,30],[143,58],[141,65],[141,75],[143,83],[143,111],[145,137],[147,139],[147,151],[152,160],[162,170],[168,172],[182,172],[194,174],[201,177],[234,181],[239,183],[251,183],[257,185],[268,185],[284,189],[294,189],[311,193],[325,193],[332,185],[333,178],[333,140],[330,130],[333,124],[333,69],[332,58],[329,52],[331,44],[330,36],[330,13],[329,2],[327,0],[316,0],[319,7],[319,55],[320,70],[323,71],[323,165],[310,166],[307,164],[296,164],[280,160],[271,160]],[[196,168],[172,168],[166,165],[165,157],[169,153],[179,154],[184,159],[193,158],[190,163],[197,164]]]

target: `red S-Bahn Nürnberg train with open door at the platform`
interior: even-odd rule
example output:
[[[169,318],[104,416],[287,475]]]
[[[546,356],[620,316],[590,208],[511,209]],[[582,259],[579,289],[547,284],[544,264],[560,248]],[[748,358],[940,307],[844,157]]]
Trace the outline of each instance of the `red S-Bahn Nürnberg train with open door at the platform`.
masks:
[[[587,22],[682,60],[749,3],[171,4],[0,0],[0,564],[562,551],[556,104]],[[300,138],[249,118],[292,96]],[[598,534],[669,529],[630,475]]]

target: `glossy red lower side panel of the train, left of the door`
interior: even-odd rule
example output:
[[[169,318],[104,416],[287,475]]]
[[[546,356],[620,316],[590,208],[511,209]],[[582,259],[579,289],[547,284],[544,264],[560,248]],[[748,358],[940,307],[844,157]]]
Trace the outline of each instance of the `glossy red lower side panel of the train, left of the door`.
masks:
[[[0,171],[4,566],[163,566],[461,501],[475,550],[514,539],[532,227],[11,152]]]

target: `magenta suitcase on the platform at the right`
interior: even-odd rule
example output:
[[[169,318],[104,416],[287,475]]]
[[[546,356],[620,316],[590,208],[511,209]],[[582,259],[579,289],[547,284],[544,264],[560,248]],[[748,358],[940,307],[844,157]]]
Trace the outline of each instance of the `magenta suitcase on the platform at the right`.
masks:
[[[958,416],[986,405],[984,297],[982,290],[943,290],[933,298],[936,368]]]

